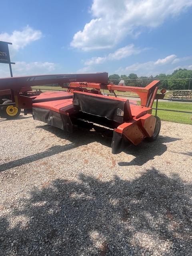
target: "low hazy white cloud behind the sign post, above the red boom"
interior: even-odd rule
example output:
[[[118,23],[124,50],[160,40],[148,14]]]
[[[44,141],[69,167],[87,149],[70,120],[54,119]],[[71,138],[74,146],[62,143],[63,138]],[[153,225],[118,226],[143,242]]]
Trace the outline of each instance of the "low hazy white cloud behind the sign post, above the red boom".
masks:
[[[56,69],[56,64],[52,62],[16,62],[12,65],[13,76],[27,76],[38,74],[50,74]],[[2,65],[0,77],[9,77],[10,71],[8,65]]]

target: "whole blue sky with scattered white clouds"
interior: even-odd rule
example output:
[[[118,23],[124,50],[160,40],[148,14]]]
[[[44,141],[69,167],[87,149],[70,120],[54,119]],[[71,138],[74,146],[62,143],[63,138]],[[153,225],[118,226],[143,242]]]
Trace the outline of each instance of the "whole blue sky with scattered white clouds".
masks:
[[[192,69],[192,0],[10,0],[1,10],[14,76]]]

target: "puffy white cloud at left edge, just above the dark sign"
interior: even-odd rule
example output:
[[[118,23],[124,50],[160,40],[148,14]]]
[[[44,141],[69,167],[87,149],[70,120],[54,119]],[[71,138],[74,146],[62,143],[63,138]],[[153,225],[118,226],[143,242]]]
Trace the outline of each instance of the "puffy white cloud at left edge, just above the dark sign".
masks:
[[[12,49],[18,51],[20,48],[24,48],[33,41],[36,41],[42,37],[40,30],[34,30],[30,26],[26,26],[23,30],[14,30],[12,34],[1,33],[0,41],[6,41],[12,43]]]

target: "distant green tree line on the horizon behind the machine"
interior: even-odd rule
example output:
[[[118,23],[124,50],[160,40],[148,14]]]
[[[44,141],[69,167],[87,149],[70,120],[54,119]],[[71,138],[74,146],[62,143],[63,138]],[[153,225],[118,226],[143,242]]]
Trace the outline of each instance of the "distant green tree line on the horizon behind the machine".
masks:
[[[126,86],[141,86],[145,87],[153,80],[161,81],[161,88],[168,90],[192,90],[192,70],[186,68],[174,70],[172,74],[159,74],[157,76],[140,76],[131,73],[128,76],[112,74],[109,76],[110,82],[118,84],[120,80],[124,80]]]

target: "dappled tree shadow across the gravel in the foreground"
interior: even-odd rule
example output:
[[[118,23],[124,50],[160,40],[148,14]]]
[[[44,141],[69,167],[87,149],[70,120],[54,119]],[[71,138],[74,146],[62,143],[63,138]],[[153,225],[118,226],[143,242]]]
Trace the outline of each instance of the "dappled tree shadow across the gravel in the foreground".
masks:
[[[0,255],[192,255],[191,190],[156,169],[130,181],[46,182],[5,205]]]

